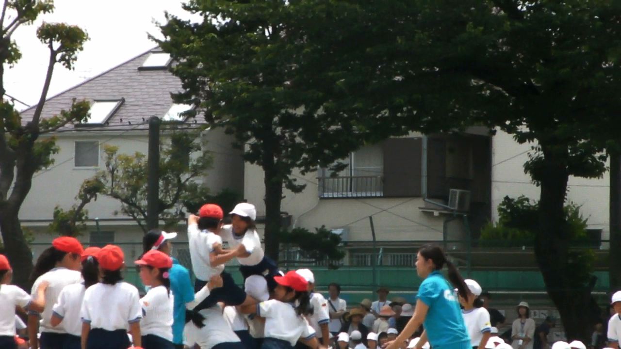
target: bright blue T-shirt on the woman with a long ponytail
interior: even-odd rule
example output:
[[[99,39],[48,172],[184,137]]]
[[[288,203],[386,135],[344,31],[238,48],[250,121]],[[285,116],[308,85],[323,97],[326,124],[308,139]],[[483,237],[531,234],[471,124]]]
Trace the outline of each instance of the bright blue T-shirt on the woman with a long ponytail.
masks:
[[[431,346],[470,346],[470,336],[461,314],[457,295],[439,271],[434,271],[420,284],[416,295],[429,310],[423,325]]]

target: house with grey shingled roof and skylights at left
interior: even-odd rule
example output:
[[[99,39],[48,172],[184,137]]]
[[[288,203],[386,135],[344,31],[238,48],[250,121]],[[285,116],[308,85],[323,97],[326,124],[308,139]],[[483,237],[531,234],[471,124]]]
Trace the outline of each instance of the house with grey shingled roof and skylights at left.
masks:
[[[179,91],[181,82],[168,71],[170,64],[170,55],[150,50],[47,99],[43,118],[68,109],[73,99],[87,99],[92,104],[91,116],[84,124],[68,125],[45,135],[57,138],[60,152],[54,156],[52,166],[35,174],[30,194],[20,211],[22,225],[33,233],[35,257],[53,238],[47,227],[52,221],[54,207],[69,209],[76,203],[75,196],[84,179],[104,168],[104,145],[119,147],[119,153],[146,154],[148,119],[153,116],[163,120],[163,129],[166,122],[200,126],[198,118],[186,119],[179,115],[188,110],[188,106],[175,104],[171,99],[170,94]],[[27,109],[22,118],[27,120],[33,113],[34,108]],[[214,170],[204,177],[211,192],[228,188],[242,193],[242,153],[230,146],[232,140],[222,130],[204,131],[203,137],[207,141],[204,150],[211,152],[214,160]],[[163,131],[161,142],[165,140]],[[99,196],[86,208],[91,219],[88,232],[81,237],[83,242],[125,244],[127,260],[132,261],[142,253],[142,230],[130,217],[114,213],[120,209],[118,201]],[[184,223],[180,224],[179,232],[184,232]],[[181,233],[179,240],[185,237]]]

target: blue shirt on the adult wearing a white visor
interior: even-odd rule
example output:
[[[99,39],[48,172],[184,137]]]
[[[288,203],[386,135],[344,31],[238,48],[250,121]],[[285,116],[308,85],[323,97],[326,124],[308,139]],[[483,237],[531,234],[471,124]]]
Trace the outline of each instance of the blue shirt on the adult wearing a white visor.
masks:
[[[175,296],[173,306],[173,343],[183,344],[183,328],[186,325],[186,303],[194,301],[194,287],[188,270],[173,258],[170,274],[170,289]]]

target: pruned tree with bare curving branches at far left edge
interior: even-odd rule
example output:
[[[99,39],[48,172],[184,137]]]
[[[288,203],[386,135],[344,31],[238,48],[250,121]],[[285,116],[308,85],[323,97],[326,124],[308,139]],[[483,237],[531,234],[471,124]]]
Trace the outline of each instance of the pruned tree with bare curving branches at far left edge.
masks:
[[[34,174],[52,165],[53,155],[58,152],[55,138],[46,134],[83,121],[90,107],[86,101],[73,101],[70,109],[57,116],[42,117],[55,66],[60,63],[73,69],[77,53],[88,40],[83,30],[62,23],[43,23],[37,29],[37,37],[49,48],[49,56],[45,82],[32,119],[22,120],[5,97],[4,70],[21,57],[12,34],[20,25],[30,24],[40,14],[52,11],[51,1],[7,0],[0,15],[0,230],[4,251],[15,270],[14,281],[22,287],[28,286],[32,253],[20,226],[19,211],[30,192]]]

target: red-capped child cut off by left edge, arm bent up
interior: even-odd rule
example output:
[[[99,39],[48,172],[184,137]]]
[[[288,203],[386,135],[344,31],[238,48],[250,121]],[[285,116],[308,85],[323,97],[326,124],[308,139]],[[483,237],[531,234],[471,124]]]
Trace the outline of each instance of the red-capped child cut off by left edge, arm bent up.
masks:
[[[37,297],[30,298],[23,289],[11,285],[13,270],[6,256],[0,255],[0,348],[15,349],[15,310],[16,307],[34,311],[43,311],[45,306],[45,289],[47,281],[42,281],[37,288]]]

